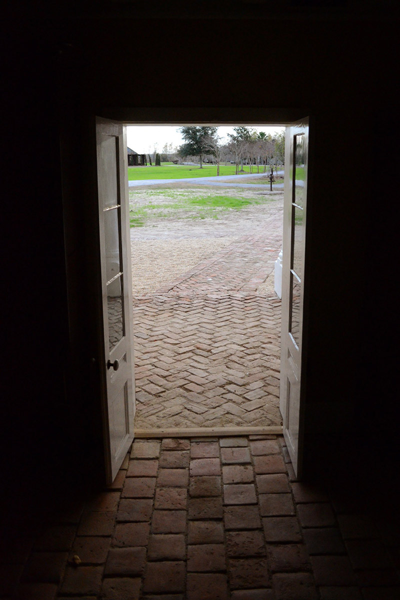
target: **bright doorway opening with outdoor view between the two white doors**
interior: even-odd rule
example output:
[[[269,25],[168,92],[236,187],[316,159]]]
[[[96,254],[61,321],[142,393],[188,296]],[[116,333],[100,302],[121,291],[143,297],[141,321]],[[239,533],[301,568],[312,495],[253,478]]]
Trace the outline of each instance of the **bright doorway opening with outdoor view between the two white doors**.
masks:
[[[164,128],[166,133],[128,128],[130,148],[144,152],[141,139],[150,144],[154,129],[171,136],[176,127]],[[232,134],[238,130],[230,128]],[[130,181],[136,209],[130,213],[136,436],[157,435],[160,428],[258,427],[281,433],[281,302],[273,279],[282,247],[283,180],[272,191],[269,183],[272,135],[281,131],[240,127],[249,136],[247,150],[269,153],[264,161],[255,157],[259,166],[254,164],[252,174],[245,155],[237,157],[236,169],[231,166],[236,156],[226,146],[225,164],[221,161],[220,175],[212,179],[207,169],[216,167],[205,162],[200,170],[195,157],[179,167],[162,163],[161,169],[146,167],[146,173],[142,167],[130,170],[130,178],[143,178]],[[245,173],[234,175],[238,169]],[[149,181],[149,171],[157,176],[158,170],[163,177],[181,170],[190,178]],[[188,259],[191,253],[194,260]]]

